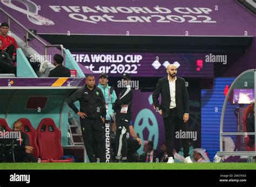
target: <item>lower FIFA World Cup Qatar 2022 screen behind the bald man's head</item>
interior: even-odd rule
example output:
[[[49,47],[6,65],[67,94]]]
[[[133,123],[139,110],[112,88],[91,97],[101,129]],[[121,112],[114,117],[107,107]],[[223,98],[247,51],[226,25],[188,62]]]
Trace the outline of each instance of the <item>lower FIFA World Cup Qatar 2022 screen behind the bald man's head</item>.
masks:
[[[109,76],[123,73],[133,77],[166,76],[166,68],[171,63],[176,64],[181,77],[213,77],[214,74],[213,63],[208,62],[207,54],[203,53],[72,52],[72,55],[80,67]]]

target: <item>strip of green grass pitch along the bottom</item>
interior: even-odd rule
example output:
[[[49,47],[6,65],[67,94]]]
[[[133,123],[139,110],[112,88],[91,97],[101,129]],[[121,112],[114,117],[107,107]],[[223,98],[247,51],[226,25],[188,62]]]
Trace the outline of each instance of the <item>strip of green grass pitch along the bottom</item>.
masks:
[[[0,169],[256,169],[256,163],[0,163]]]

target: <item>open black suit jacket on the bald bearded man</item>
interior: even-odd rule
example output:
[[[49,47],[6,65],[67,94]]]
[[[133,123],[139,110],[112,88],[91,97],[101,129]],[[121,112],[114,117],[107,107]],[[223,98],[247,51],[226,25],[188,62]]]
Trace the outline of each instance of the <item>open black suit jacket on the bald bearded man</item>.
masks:
[[[161,104],[159,104],[159,100],[158,100],[160,93],[161,93]],[[189,113],[189,104],[190,104],[184,78],[177,77],[175,99],[176,99],[176,110],[177,110],[178,117],[180,119],[183,119],[184,113]],[[158,110],[162,110],[164,118],[167,118],[169,116],[171,97],[170,97],[169,81],[167,76],[160,78],[158,80],[156,88],[154,89],[154,92],[153,92],[153,103],[156,109],[158,108]]]

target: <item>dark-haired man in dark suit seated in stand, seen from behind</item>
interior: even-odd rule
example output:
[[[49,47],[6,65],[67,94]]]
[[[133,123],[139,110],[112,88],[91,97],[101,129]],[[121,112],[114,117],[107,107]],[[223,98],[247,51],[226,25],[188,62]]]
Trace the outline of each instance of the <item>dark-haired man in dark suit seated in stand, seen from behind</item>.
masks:
[[[50,71],[49,77],[70,77],[70,69],[62,65],[63,56],[56,54],[53,56],[53,60],[56,68]]]

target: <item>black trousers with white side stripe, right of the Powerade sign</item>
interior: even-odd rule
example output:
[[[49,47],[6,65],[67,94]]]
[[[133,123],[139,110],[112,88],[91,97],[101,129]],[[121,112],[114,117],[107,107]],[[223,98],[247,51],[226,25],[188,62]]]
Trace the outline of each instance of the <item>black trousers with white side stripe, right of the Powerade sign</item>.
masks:
[[[116,159],[127,159],[127,138],[126,133],[129,132],[129,121],[117,119],[116,131]]]

